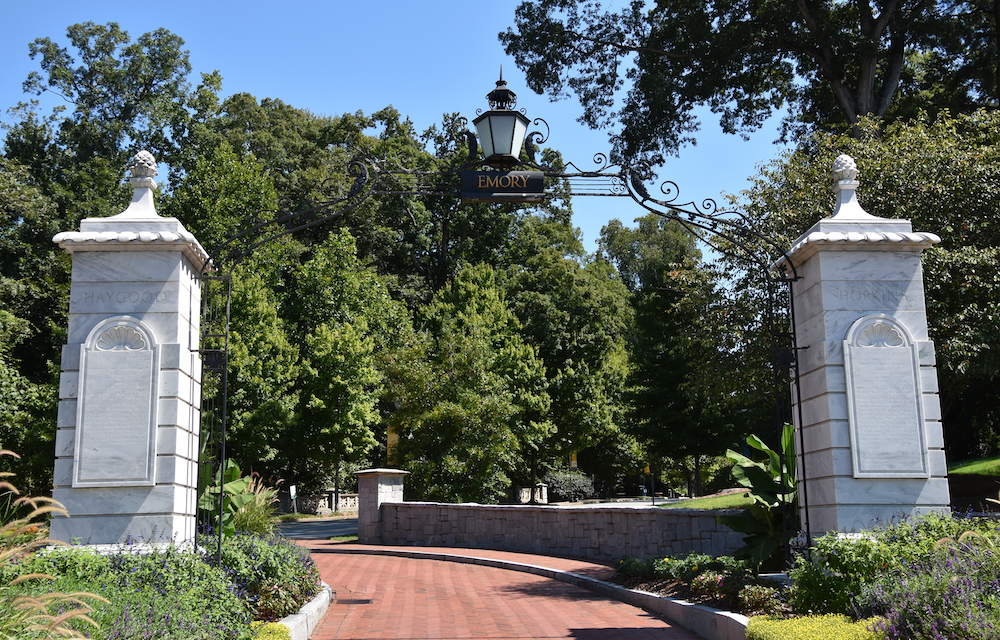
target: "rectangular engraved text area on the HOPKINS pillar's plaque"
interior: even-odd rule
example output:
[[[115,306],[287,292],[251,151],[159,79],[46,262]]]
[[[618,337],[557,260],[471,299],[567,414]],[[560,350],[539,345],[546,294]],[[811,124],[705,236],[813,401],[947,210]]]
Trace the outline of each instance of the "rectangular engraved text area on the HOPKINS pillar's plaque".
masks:
[[[920,401],[907,348],[850,347],[858,471],[924,470]]]

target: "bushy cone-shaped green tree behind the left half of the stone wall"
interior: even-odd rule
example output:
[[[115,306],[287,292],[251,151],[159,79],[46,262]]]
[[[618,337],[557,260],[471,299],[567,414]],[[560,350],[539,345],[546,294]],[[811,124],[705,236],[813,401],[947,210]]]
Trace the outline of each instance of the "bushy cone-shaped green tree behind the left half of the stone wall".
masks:
[[[389,369],[408,490],[422,499],[498,502],[525,451],[551,432],[544,367],[487,265],[460,271],[424,317],[425,332]]]

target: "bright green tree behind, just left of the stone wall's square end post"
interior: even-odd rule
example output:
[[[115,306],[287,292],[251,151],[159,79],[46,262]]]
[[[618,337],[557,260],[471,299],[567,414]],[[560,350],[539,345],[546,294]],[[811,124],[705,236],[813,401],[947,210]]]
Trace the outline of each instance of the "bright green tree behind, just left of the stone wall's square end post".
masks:
[[[331,232],[305,255],[284,312],[303,346],[301,394],[282,455],[300,484],[325,488],[340,463],[375,448],[381,361],[409,341],[412,319],[384,278],[361,264],[347,231]]]

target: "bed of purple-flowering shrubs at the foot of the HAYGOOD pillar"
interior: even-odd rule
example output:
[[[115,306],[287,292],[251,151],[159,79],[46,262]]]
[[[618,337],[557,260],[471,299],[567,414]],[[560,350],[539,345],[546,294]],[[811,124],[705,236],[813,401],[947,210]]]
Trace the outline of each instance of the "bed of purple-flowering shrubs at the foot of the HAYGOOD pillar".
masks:
[[[214,553],[203,558],[176,547],[123,545],[108,555],[60,548],[8,566],[0,584],[47,573],[52,582],[17,585],[18,595],[38,598],[50,589],[100,594],[108,602],[90,614],[100,630],[86,630],[95,640],[250,640],[255,617],[284,617],[319,589],[308,552],[283,538],[236,535],[225,540],[222,565],[214,561]],[[70,626],[84,631],[79,623]]]

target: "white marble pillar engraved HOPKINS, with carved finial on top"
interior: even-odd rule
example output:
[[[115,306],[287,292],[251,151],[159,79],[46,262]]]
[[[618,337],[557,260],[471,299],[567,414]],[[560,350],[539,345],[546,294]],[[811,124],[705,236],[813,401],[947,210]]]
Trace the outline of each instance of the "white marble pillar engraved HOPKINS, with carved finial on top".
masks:
[[[920,267],[921,252],[940,238],[865,212],[857,174],[850,157],[837,158],[833,216],[788,252],[802,278],[792,299],[802,424],[793,415],[805,441],[799,503],[804,489],[814,533],[950,502]]]

